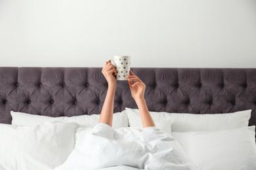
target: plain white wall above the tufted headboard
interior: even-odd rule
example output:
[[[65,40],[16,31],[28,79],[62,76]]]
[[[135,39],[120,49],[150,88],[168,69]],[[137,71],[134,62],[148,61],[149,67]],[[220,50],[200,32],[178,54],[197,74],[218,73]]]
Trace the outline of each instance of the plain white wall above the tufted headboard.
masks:
[[[0,67],[256,67],[256,0],[0,0]]]

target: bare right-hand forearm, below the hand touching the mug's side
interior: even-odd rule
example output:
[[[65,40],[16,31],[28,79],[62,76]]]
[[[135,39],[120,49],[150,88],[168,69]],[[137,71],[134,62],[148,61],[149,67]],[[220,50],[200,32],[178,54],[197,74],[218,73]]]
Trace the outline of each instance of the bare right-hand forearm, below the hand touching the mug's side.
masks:
[[[135,100],[137,103],[137,106],[140,111],[140,117],[142,120],[143,127],[151,127],[155,126],[154,121],[150,115],[150,112],[148,111],[148,107],[146,106],[146,101],[144,98]]]

